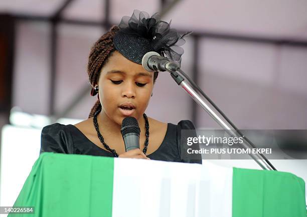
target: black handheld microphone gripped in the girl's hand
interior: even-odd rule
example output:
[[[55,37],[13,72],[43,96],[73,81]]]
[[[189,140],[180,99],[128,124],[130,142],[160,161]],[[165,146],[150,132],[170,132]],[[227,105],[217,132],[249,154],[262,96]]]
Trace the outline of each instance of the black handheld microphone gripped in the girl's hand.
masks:
[[[120,132],[125,143],[126,151],[139,148],[140,129],[135,117],[125,117],[122,120]]]

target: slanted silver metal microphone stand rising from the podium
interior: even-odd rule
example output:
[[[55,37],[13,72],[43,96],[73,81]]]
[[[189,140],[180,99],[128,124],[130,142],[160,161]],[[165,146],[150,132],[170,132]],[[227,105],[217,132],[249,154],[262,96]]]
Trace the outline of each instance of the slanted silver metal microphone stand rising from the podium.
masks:
[[[244,148],[255,148],[255,145],[227,118],[227,116],[214,104],[203,90],[179,67],[168,67],[172,78],[181,85],[189,95],[230,135],[242,137]],[[190,83],[186,82],[187,79]],[[276,170],[271,162],[262,153],[248,153],[252,159],[264,170]]]

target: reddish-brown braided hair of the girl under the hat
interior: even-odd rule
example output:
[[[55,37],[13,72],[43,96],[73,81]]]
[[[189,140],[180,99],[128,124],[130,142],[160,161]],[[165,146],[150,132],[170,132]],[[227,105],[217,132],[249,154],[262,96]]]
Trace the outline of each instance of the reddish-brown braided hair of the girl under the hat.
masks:
[[[107,62],[108,57],[115,49],[113,44],[113,36],[118,32],[119,27],[114,25],[108,32],[103,34],[92,46],[87,64],[87,73],[89,82],[94,87],[98,83],[101,68]],[[158,77],[158,71],[154,73],[154,83]],[[95,112],[101,108],[99,99],[92,107],[88,118],[93,117]]]

